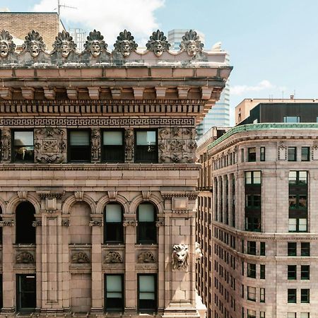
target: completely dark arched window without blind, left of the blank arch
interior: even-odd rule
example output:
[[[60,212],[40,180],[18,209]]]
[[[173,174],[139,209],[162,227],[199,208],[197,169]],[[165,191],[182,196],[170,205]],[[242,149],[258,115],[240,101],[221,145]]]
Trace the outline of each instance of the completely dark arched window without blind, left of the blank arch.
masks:
[[[35,208],[30,202],[21,202],[16,208],[16,243],[35,244]]]

